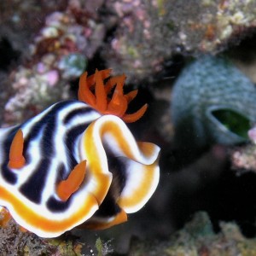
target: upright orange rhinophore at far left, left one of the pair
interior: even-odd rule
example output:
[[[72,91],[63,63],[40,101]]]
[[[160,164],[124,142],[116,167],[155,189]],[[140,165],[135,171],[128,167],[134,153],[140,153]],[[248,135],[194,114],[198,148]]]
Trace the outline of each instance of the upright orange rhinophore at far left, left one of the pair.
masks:
[[[23,156],[24,138],[23,132],[19,129],[11,143],[9,149],[9,168],[20,169],[25,165],[25,158]]]

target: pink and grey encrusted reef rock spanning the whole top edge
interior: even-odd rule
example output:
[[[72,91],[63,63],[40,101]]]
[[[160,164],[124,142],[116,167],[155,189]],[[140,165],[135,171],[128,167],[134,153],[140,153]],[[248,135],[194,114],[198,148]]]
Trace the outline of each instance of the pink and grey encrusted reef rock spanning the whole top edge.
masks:
[[[13,91],[8,93],[11,99],[4,125],[18,123],[22,116],[26,119],[50,103],[66,99],[70,80],[78,78],[98,49],[108,67],[113,67],[115,73],[125,71],[134,83],[153,79],[154,73],[162,70],[164,61],[177,53],[218,51],[219,45],[225,45],[236,34],[247,35],[247,28],[255,22],[253,1],[188,4],[59,0],[55,4],[40,3],[42,6],[39,4],[38,8],[32,3],[32,0],[14,5],[1,3],[0,37],[8,38],[11,47],[20,52],[22,62],[2,83],[6,87],[14,84]],[[71,65],[76,70],[70,69]],[[38,90],[38,96],[32,90]],[[26,99],[20,95],[22,91]]]

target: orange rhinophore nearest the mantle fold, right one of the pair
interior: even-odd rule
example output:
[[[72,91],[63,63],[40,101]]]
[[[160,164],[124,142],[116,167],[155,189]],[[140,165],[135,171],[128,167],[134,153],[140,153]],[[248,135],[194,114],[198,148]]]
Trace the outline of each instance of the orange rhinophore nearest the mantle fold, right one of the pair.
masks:
[[[86,168],[86,160],[80,162],[73,168],[73,171],[69,174],[66,180],[61,181],[57,186],[57,194],[62,201],[67,199],[79,189],[81,183],[84,180]]]

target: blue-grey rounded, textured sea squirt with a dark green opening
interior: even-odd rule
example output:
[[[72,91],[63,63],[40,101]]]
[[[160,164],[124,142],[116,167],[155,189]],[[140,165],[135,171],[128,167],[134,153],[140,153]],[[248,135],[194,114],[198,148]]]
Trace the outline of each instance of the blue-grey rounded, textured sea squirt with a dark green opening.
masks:
[[[185,67],[172,91],[178,146],[246,142],[256,122],[256,88],[227,58],[205,55]]]

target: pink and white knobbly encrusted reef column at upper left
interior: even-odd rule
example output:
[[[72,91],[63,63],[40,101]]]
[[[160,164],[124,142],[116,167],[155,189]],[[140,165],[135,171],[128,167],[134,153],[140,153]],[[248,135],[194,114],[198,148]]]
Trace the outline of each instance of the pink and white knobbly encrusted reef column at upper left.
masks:
[[[79,1],[70,1],[65,11],[45,18],[44,27],[30,44],[25,65],[10,74],[15,95],[5,105],[5,125],[70,97],[70,81],[84,71],[105,35],[102,24],[83,8]]]

